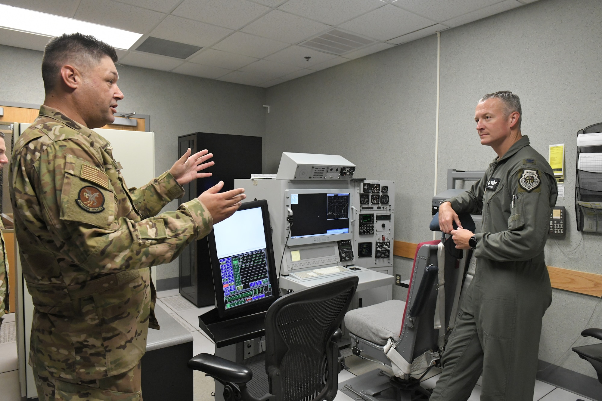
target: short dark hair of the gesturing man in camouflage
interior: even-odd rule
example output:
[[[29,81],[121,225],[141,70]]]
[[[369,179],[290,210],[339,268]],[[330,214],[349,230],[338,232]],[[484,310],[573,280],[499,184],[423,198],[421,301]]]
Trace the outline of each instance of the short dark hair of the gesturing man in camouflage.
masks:
[[[52,92],[58,82],[61,67],[67,61],[100,61],[108,56],[117,63],[117,52],[113,46],[91,35],[81,33],[62,34],[48,42],[42,58],[42,79],[46,93]]]

